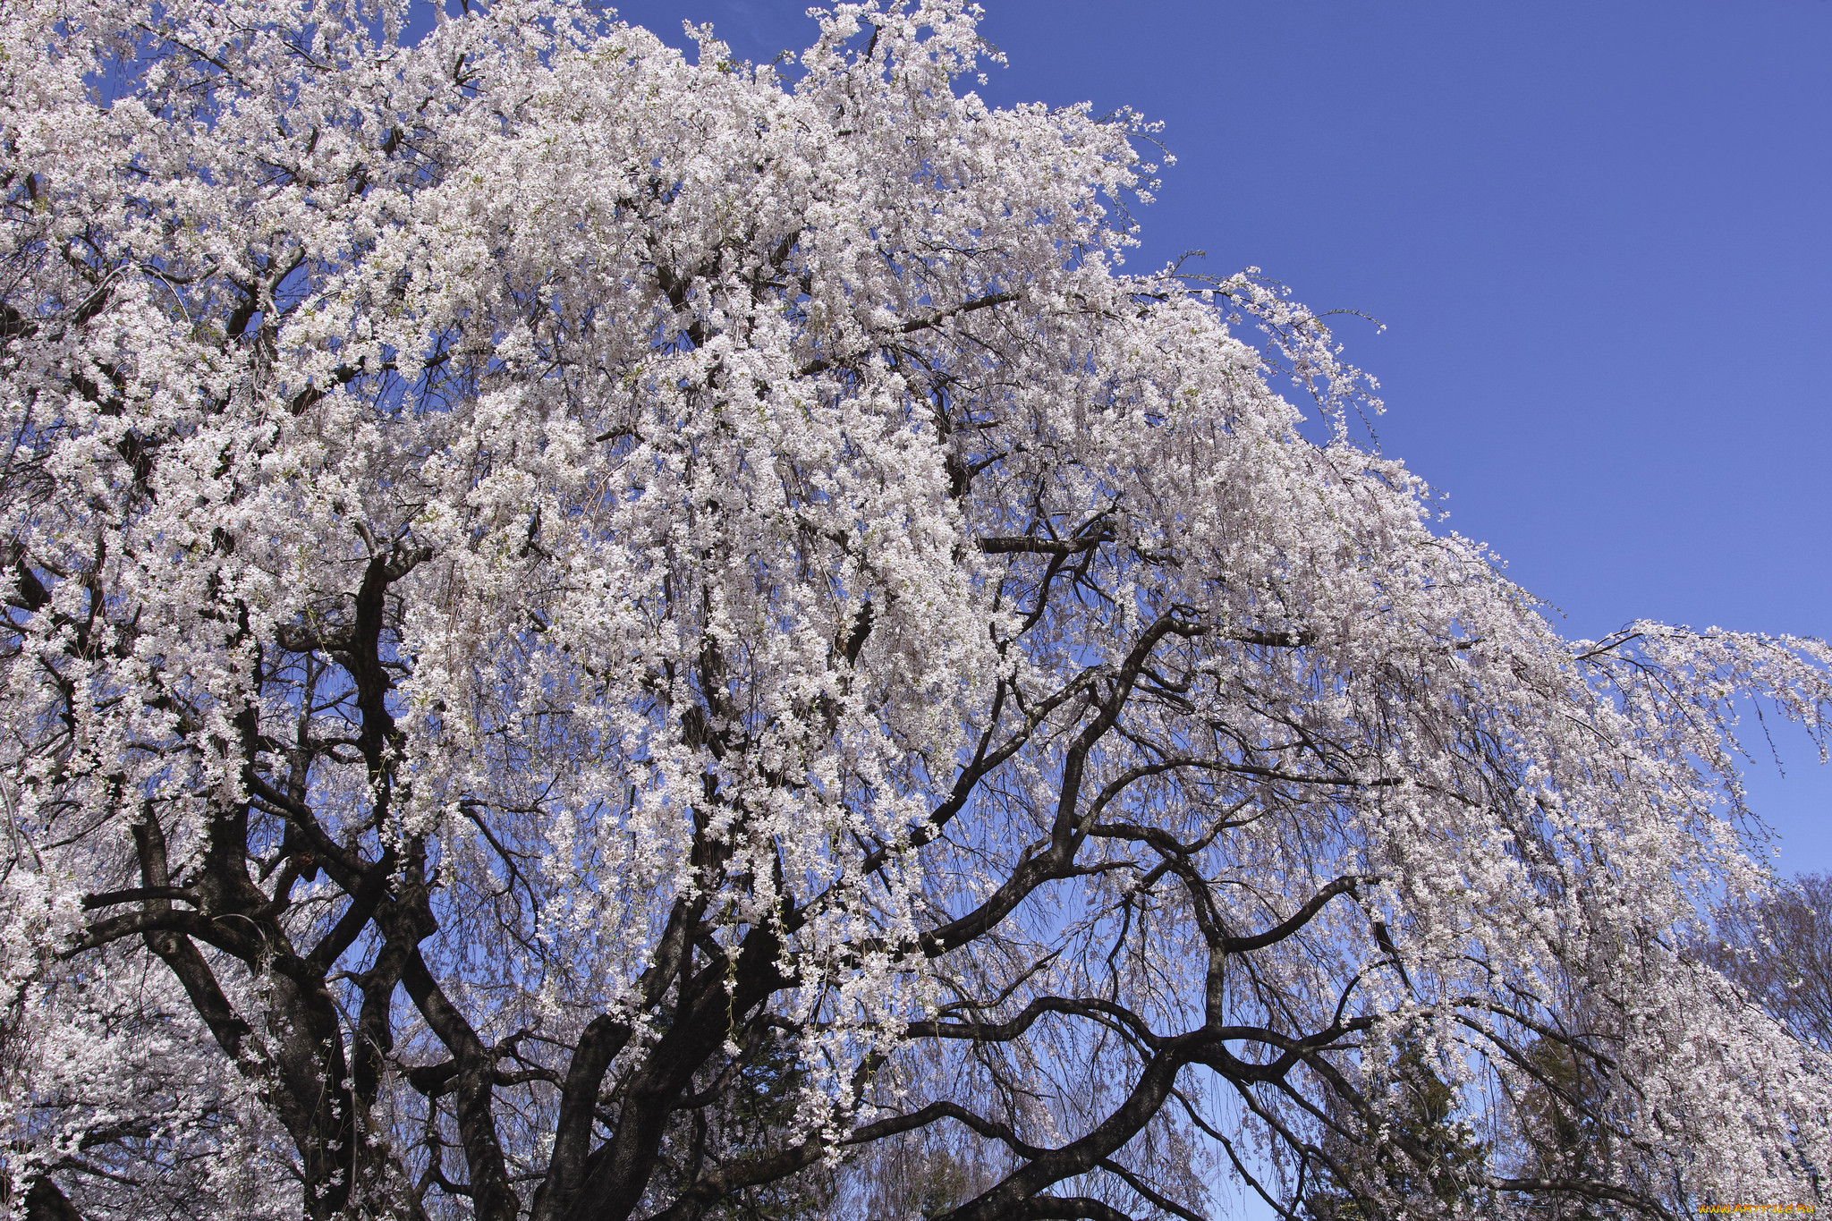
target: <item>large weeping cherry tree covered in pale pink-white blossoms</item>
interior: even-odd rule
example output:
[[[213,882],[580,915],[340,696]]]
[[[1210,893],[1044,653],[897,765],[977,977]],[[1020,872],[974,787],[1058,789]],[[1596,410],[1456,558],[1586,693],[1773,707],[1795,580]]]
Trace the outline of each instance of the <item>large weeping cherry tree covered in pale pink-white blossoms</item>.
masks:
[[[1827,1058],[1678,946],[1823,644],[1563,641],[960,4],[407,20],[0,13],[15,1208],[1812,1190]],[[1608,1159],[1535,1170],[1546,1038]]]

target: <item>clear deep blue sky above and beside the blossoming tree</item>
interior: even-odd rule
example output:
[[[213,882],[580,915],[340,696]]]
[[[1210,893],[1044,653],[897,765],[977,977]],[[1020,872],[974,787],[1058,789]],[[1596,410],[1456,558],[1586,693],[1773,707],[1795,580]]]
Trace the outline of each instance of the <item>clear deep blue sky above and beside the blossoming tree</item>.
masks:
[[[619,7],[802,48],[804,0]],[[986,0],[995,104],[1165,123],[1156,265],[1257,265],[1347,319],[1385,452],[1563,608],[1832,635],[1832,2]],[[1761,736],[1757,734],[1757,743]],[[1832,871],[1832,769],[1755,771]]]

